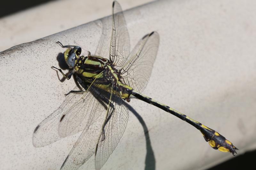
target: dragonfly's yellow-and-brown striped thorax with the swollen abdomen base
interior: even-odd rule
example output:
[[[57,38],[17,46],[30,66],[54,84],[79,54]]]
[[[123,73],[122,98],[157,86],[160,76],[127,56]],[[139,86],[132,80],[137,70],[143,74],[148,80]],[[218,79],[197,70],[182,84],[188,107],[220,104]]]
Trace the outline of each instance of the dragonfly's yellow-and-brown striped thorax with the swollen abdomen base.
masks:
[[[78,56],[73,69],[84,82],[91,84],[95,81],[94,85],[97,85],[100,89],[109,92],[113,85],[113,89],[118,88],[120,96],[124,99],[129,98],[132,93],[133,89],[122,82],[118,69],[113,67],[106,58],[100,56]]]

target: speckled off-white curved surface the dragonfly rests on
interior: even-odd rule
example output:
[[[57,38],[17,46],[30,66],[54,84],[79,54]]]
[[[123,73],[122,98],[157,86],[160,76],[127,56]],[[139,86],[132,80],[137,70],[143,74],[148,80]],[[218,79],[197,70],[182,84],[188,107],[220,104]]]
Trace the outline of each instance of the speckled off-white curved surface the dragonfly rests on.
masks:
[[[143,93],[217,130],[238,154],[256,143],[255,3],[172,0],[124,12],[132,48],[148,32],[160,35]],[[35,127],[76,86],[73,80],[60,82],[51,69],[63,52],[55,42],[75,40],[93,53],[100,34],[96,21],[0,54],[1,168],[60,168],[79,134],[42,148],[32,145]],[[204,169],[233,157],[211,149],[180,119],[137,100],[130,105],[142,119],[130,112],[124,135],[102,169]],[[94,157],[80,169],[94,169]]]

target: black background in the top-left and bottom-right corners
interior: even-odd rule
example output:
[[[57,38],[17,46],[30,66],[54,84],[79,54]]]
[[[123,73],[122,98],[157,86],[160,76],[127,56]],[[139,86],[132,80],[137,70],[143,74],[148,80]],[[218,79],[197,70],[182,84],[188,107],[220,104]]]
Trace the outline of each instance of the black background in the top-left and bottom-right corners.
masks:
[[[19,12],[22,10],[26,10],[28,8],[34,7],[36,5],[44,4],[49,1],[54,0],[23,0],[23,1],[2,1],[1,2],[1,10],[0,10],[0,18],[13,14],[15,12]],[[220,153],[222,154],[222,153]],[[245,154],[241,154],[238,151],[238,155],[236,155],[233,159],[230,159],[226,162],[223,162],[217,166],[214,166],[208,170],[219,170],[219,169],[255,169],[254,161],[256,157],[256,150],[251,152],[246,152]]]

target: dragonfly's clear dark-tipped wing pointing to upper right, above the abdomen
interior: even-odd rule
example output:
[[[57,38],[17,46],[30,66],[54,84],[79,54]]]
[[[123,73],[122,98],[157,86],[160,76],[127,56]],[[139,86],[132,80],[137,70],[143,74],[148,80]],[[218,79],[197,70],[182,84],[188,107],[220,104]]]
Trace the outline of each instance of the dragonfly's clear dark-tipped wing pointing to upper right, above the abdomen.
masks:
[[[140,93],[147,86],[158,45],[159,35],[157,32],[145,35],[134,47],[121,69],[124,83]]]

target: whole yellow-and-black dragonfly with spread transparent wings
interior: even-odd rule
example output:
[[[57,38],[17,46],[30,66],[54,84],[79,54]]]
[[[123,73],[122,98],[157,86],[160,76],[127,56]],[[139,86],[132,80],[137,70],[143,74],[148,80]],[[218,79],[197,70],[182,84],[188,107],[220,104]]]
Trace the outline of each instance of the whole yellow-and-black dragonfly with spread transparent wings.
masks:
[[[112,23],[101,19],[103,32],[94,55],[81,55],[80,46],[65,45],[64,59],[68,74],[53,67],[69,80],[72,75],[83,87],[76,87],[65,101],[34,130],[33,145],[42,147],[82,131],[60,169],[78,169],[95,153],[99,170],[124,134],[129,110],[125,102],[137,98],[152,104],[198,129],[213,149],[221,152],[238,150],[217,131],[193,120],[171,107],[142,94],[146,88],[159,46],[154,31],[139,40],[130,53],[130,38],[120,4],[112,4]],[[112,30],[109,29],[112,24]],[[108,33],[108,31],[112,33]],[[110,44],[110,45],[109,45]]]

